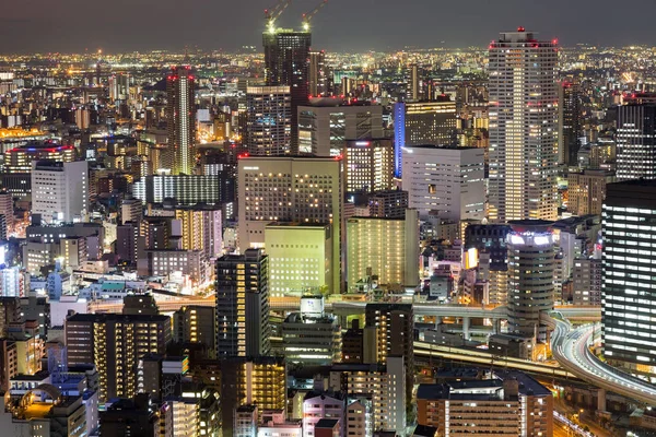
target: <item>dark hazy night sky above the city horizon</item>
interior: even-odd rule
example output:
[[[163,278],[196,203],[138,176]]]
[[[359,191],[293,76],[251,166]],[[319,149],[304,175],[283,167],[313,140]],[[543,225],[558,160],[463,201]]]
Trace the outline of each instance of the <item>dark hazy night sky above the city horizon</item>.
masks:
[[[2,0],[9,2],[10,0]],[[234,50],[261,45],[274,0],[20,0],[0,8],[0,52]],[[294,0],[279,21],[298,26],[319,0]],[[518,25],[562,45],[656,45],[655,0],[329,0],[313,47],[339,51],[483,47]],[[444,42],[444,43],[442,43]]]

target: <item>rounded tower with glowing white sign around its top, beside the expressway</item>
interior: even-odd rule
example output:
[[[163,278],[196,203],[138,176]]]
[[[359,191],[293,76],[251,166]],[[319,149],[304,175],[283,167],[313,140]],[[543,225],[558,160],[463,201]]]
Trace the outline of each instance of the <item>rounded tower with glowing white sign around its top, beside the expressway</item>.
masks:
[[[555,251],[552,222],[525,220],[509,223],[508,330],[547,341],[540,316],[553,309]]]

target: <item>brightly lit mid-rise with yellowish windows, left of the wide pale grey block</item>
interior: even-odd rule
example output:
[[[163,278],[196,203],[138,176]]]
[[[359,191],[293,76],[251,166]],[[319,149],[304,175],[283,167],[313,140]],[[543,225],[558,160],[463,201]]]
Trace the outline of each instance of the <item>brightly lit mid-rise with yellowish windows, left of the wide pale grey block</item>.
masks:
[[[371,193],[394,188],[391,139],[347,140],[342,157],[347,193]]]

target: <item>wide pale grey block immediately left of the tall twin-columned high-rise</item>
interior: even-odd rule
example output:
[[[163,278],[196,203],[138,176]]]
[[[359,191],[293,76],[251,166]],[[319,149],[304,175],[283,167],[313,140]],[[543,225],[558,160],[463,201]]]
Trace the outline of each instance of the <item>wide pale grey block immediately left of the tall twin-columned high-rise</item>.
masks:
[[[403,150],[403,190],[422,218],[481,221],[485,213],[483,150],[414,145]]]

